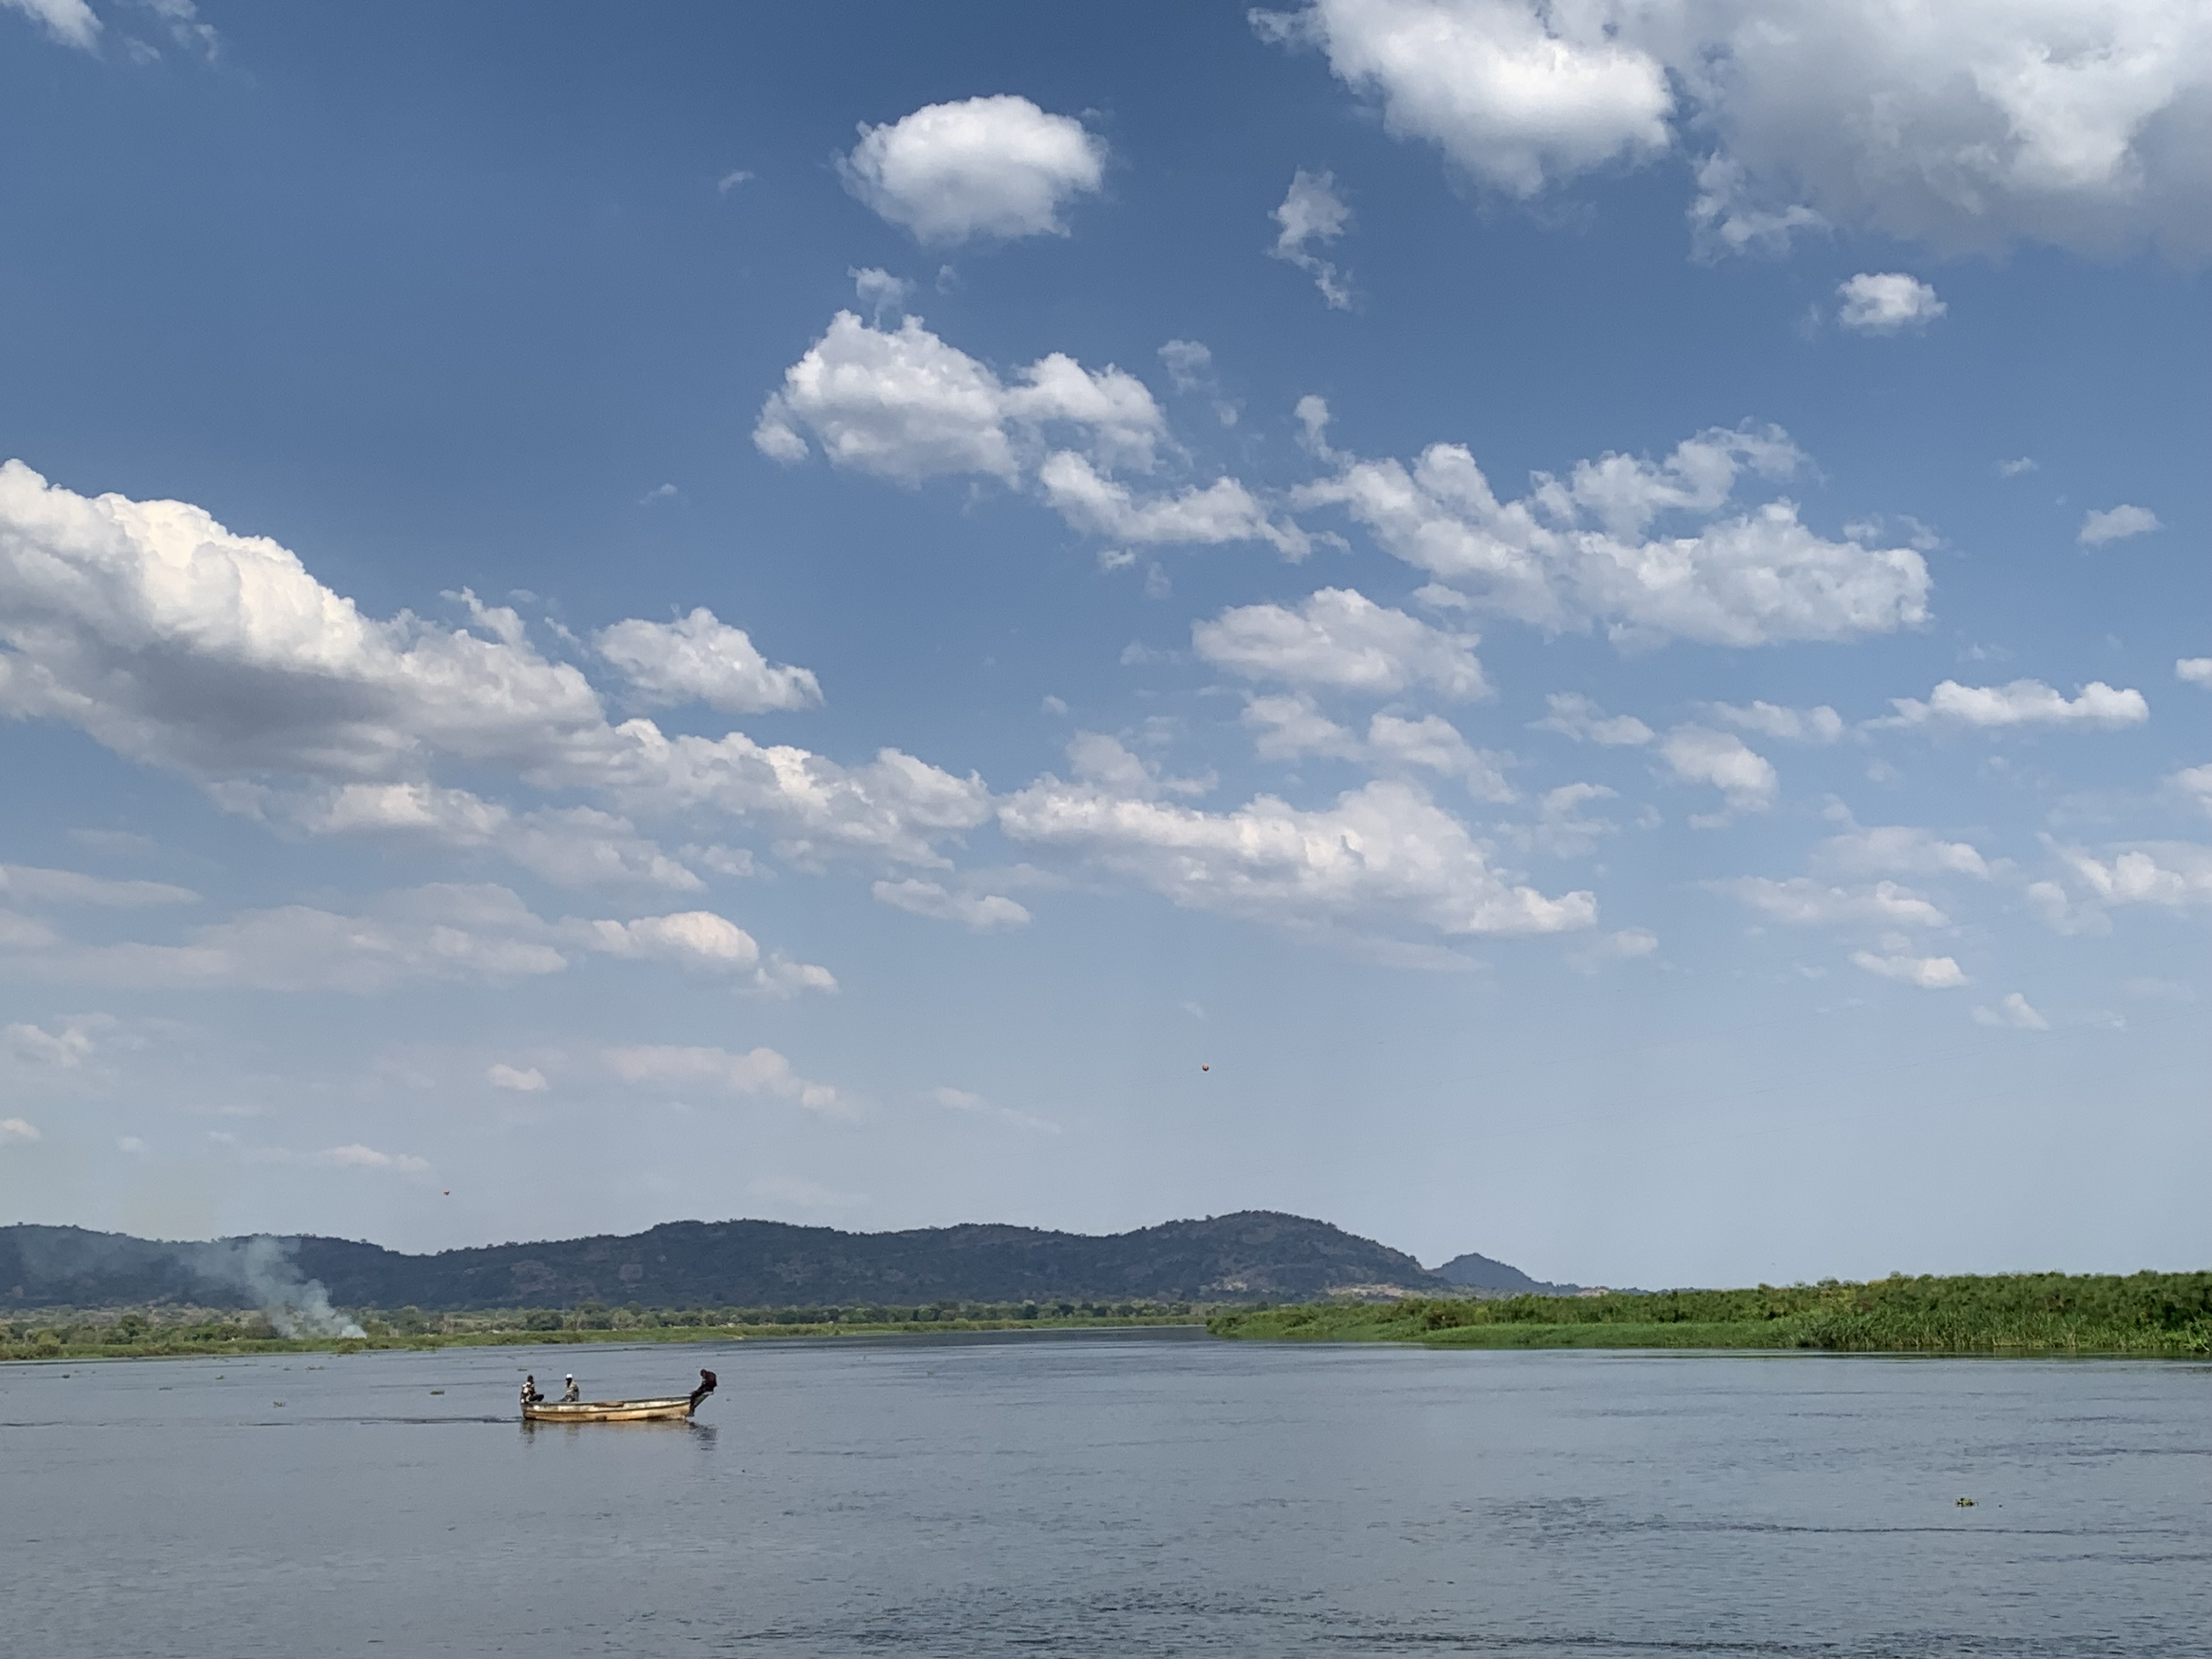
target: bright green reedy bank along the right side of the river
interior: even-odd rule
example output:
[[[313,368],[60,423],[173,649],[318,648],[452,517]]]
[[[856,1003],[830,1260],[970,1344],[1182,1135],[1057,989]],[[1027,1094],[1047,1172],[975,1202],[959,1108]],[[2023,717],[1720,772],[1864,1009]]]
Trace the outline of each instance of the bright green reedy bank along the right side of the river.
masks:
[[[1429,1347],[1798,1347],[1836,1354],[2212,1354],[2212,1272],[1878,1279],[1217,1312],[1214,1336]]]

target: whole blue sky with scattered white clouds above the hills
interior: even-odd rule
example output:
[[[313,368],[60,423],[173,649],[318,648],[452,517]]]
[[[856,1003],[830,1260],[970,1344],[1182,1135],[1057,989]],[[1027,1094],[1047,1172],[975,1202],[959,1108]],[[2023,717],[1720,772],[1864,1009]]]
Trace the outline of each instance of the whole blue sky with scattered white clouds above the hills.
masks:
[[[2201,1265],[2190,7],[0,4],[0,1217]]]

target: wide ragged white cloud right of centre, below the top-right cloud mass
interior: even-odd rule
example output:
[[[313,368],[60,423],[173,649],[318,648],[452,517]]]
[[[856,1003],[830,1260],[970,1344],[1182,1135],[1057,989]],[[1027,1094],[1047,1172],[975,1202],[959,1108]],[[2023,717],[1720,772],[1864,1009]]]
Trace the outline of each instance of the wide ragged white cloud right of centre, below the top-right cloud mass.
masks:
[[[1542,628],[1604,624],[1621,644],[1854,639],[1924,622],[1918,551],[1832,542],[1790,500],[1730,511],[1743,476],[1801,462],[1778,429],[1712,429],[1666,460],[1608,453],[1500,500],[1462,445],[1431,445],[1413,467],[1349,460],[1292,500],[1343,507],[1383,551],[1493,611]],[[1672,533],[1663,520],[1677,515],[1694,526]]]

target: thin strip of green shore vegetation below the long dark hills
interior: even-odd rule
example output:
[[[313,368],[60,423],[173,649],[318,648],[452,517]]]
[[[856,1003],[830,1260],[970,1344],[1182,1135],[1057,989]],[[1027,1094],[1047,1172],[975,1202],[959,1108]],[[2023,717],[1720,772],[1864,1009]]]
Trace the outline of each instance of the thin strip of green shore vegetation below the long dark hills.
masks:
[[[0,1323],[0,1360],[361,1354],[383,1347],[535,1343],[732,1343],[761,1336],[927,1336],[947,1332],[1197,1325],[1190,1303],[927,1303],[920,1307],[509,1307],[422,1314],[361,1310],[358,1336],[281,1334],[265,1314],[210,1307],[44,1307]]]

